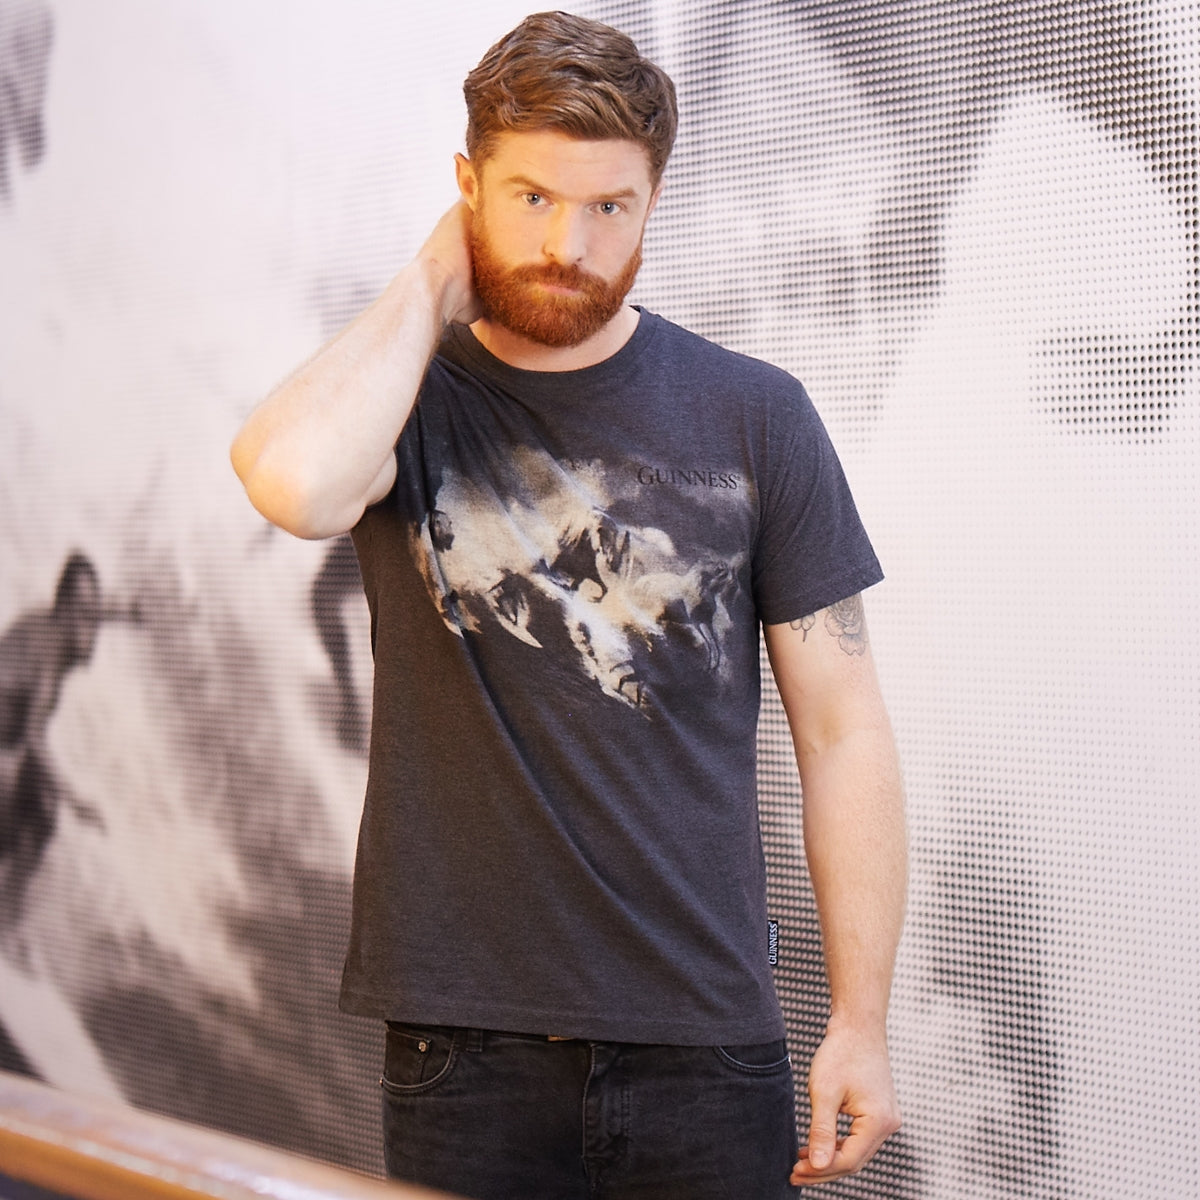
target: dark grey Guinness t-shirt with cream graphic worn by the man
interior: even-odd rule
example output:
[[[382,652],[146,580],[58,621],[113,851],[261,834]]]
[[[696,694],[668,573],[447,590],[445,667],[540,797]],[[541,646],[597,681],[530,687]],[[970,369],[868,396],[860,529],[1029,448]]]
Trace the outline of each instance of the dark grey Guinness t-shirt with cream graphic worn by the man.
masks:
[[[582,371],[454,328],[354,530],[376,654],[342,1007],[782,1034],[758,624],[880,577],[804,389],[643,312]]]

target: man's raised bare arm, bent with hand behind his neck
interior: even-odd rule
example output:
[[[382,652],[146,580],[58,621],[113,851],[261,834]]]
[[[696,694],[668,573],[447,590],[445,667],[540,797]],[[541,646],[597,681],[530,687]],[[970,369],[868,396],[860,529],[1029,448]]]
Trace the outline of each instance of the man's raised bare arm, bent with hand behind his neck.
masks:
[[[443,330],[479,316],[469,222],[466,204],[450,209],[378,299],[251,413],[230,457],[268,521],[331,538],[388,493]]]

